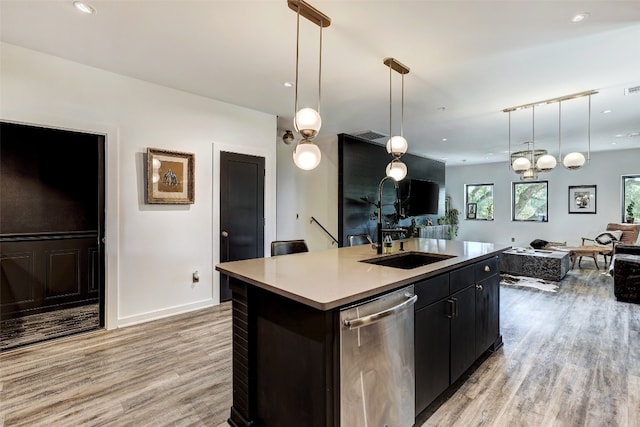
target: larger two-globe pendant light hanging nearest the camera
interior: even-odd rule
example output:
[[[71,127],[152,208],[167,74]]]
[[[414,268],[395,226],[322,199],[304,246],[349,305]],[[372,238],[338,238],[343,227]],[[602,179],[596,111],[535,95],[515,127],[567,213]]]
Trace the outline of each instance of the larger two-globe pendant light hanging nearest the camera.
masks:
[[[300,169],[311,170],[320,164],[322,153],[320,148],[313,143],[313,138],[320,131],[322,126],[322,118],[320,117],[320,98],[322,93],[322,29],[331,25],[331,19],[307,4],[302,0],[288,0],[289,8],[294,10],[297,15],[296,21],[296,93],[294,105],[293,126],[297,133],[300,134],[300,140],[293,150],[293,162]],[[318,60],[318,107],[317,110],[311,107],[298,109],[298,69],[300,60],[300,16],[307,18],[309,21],[320,27],[320,48]]]

